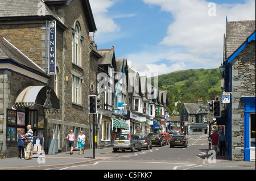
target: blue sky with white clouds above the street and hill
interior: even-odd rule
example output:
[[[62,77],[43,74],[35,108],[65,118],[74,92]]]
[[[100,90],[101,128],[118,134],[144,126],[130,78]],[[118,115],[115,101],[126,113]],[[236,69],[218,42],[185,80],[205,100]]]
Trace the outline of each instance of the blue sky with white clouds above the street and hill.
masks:
[[[255,20],[255,0],[89,0],[98,49],[114,46],[139,75],[214,69],[228,21]]]

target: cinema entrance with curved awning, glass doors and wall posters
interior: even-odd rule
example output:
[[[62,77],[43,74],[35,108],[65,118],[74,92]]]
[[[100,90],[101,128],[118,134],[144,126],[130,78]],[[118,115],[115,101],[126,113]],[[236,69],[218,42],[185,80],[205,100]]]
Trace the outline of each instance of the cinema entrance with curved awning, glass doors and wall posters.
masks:
[[[34,137],[44,138],[47,144],[46,113],[59,113],[60,105],[55,92],[49,86],[28,86],[16,97],[15,104],[6,109],[6,155],[13,157],[11,148],[16,147],[18,134],[31,125]],[[46,151],[47,152],[47,151]]]

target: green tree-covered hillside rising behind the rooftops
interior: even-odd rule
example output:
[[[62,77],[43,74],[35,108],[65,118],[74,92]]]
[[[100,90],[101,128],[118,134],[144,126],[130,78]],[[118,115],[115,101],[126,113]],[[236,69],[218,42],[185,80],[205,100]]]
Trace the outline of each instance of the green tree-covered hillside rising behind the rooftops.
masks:
[[[196,103],[197,99],[214,99],[221,95],[221,74],[216,69],[189,69],[159,75],[159,90],[168,90],[169,112],[179,112],[183,103]],[[175,107],[175,102],[181,103]],[[171,113],[170,113],[171,115]]]

